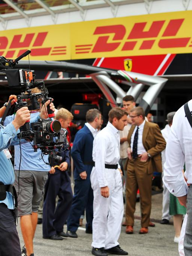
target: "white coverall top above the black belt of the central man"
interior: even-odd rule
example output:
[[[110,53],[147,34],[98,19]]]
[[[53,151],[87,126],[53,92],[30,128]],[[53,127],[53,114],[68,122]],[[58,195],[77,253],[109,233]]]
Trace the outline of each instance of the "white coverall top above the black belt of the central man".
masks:
[[[108,186],[105,164],[118,164],[120,155],[120,134],[110,122],[103,128],[93,141],[94,171],[97,171],[100,188]],[[118,168],[120,165],[118,164]]]

